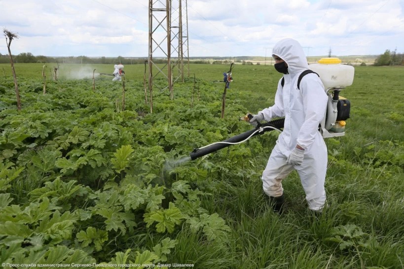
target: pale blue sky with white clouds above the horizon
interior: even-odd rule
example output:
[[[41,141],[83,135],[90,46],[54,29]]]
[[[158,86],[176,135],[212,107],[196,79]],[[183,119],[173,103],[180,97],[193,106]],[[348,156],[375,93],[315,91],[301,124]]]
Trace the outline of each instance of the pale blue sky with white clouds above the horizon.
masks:
[[[404,53],[403,9],[404,0],[187,0],[189,56],[270,57],[285,37],[297,39],[306,56],[330,48],[335,56]],[[161,14],[153,11],[157,20]],[[156,26],[153,38],[166,44]],[[147,0],[0,0],[0,27],[18,33],[15,55],[148,56]]]

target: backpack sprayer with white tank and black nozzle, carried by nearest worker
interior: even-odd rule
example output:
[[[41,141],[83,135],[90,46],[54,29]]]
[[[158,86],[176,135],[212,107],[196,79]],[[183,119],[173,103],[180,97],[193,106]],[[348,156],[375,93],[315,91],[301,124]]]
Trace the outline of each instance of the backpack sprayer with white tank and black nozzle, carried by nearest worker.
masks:
[[[341,65],[341,60],[338,58],[323,58],[318,61],[318,64],[309,65],[309,72],[303,72],[299,76],[298,81],[310,72],[315,72],[319,75],[324,84],[326,94],[328,95],[327,109],[324,111],[324,118],[320,122],[319,131],[324,138],[345,135],[345,120],[349,118],[350,102],[339,96],[339,92],[346,86],[352,85],[354,80],[354,67]],[[249,121],[253,116],[246,115],[240,120]],[[189,156],[191,160],[202,157],[209,153],[218,151],[230,145],[240,144],[251,137],[276,130],[282,132],[285,118],[269,121],[264,124],[257,123],[257,127],[253,130],[242,134],[230,137],[221,142],[215,142],[200,148],[194,149]]]

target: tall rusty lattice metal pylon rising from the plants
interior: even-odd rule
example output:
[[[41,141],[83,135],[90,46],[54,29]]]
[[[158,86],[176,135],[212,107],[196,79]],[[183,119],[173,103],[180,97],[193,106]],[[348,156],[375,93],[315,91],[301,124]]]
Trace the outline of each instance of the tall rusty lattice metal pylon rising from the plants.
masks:
[[[185,2],[184,7],[183,2]],[[161,74],[166,77],[171,98],[173,98],[174,82],[179,79],[184,81],[184,58],[188,64],[189,76],[186,0],[149,0],[148,44],[149,90],[152,91],[153,78]],[[167,63],[162,67],[158,66],[157,58],[166,58]],[[153,70],[157,70],[155,74]]]

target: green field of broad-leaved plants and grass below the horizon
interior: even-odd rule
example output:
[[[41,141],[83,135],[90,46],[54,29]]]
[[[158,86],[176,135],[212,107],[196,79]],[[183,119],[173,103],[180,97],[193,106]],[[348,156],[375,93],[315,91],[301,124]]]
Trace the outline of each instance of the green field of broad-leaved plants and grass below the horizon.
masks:
[[[125,66],[124,109],[121,82],[97,76],[92,90],[94,68],[113,71],[61,65],[52,81],[48,65],[44,95],[42,64],[15,65],[17,111],[10,65],[0,65],[2,267],[404,268],[403,67],[355,67],[341,92],[351,118],[345,136],[326,139],[321,216],[295,172],[283,182],[287,212],[270,210],[260,175],[274,132],[186,159],[252,128],[238,119],[273,104],[273,66],[233,68],[223,119],[224,84],[213,81],[229,66],[191,64],[173,100],[155,78],[153,113],[144,66]],[[80,70],[87,78],[73,79]]]

